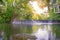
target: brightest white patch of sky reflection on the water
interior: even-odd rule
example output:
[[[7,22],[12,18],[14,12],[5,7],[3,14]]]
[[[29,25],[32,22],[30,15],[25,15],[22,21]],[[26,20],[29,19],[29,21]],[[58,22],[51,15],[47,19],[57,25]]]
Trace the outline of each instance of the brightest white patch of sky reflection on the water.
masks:
[[[47,27],[46,27],[47,28]],[[48,40],[49,33],[46,28],[38,28],[36,32],[34,32],[32,35],[35,35],[37,37],[36,40]]]

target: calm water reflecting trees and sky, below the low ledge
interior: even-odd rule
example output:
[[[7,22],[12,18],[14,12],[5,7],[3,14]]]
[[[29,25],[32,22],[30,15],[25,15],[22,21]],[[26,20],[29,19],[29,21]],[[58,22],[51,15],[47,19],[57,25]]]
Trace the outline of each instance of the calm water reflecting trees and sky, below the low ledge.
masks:
[[[0,40],[60,40],[60,24],[0,24]]]

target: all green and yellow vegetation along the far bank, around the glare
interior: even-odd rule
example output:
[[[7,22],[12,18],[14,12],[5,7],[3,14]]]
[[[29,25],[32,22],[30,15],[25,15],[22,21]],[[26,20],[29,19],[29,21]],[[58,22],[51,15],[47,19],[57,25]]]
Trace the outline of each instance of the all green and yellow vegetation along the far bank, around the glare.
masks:
[[[49,10],[50,17],[42,17],[31,12],[28,0],[0,0],[0,23],[16,20],[60,20],[60,14],[55,14],[53,9]],[[49,5],[49,0],[47,1]],[[37,19],[38,17],[38,19]]]

